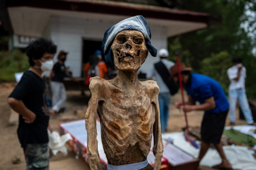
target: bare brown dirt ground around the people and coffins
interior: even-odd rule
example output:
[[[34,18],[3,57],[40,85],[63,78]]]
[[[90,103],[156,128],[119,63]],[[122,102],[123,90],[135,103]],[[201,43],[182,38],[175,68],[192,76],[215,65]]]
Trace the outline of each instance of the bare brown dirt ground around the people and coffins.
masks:
[[[10,106],[7,104],[7,97],[12,92],[16,83],[0,83],[0,170],[22,170],[25,169],[25,159],[23,150],[17,137],[17,125],[8,126],[10,117]],[[74,114],[76,108],[86,108],[89,101],[89,93],[81,96],[80,91],[67,91],[67,101],[64,104],[67,112],[61,113],[59,117],[50,119],[52,128],[58,131],[58,125],[63,122],[84,119],[84,114]],[[180,100],[180,94],[172,97],[170,104],[170,118],[169,128],[167,132],[182,131],[181,128],[185,127],[185,120],[183,113],[174,107],[174,102]],[[238,112],[237,112],[238,114]],[[18,116],[18,115],[17,115]],[[192,127],[200,127],[203,112],[190,112],[188,113],[188,124]],[[238,118],[238,115],[237,115]],[[226,125],[228,126],[229,120],[227,119]],[[246,124],[244,120],[237,120],[237,125]],[[68,148],[68,155],[63,156],[58,153],[57,156],[51,156],[50,169],[52,170],[87,170],[89,166],[82,158],[75,158],[72,149],[66,144]],[[20,159],[20,163],[13,164],[13,160]],[[201,170],[210,170],[209,167],[201,167]]]

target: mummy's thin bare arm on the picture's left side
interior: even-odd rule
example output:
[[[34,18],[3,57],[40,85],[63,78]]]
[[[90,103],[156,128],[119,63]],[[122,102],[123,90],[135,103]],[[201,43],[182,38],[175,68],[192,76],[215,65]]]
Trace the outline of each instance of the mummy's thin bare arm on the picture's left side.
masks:
[[[92,80],[92,79],[91,79]],[[87,161],[92,170],[101,169],[100,155],[98,152],[97,129],[96,129],[96,114],[99,102],[98,84],[91,82],[89,86],[92,97],[89,101],[89,107],[85,113],[85,128],[87,131]]]

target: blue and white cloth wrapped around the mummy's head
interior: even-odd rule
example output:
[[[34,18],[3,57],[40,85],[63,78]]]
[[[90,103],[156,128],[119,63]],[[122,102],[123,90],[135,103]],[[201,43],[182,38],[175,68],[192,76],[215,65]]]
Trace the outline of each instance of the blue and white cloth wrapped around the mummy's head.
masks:
[[[112,41],[115,39],[116,35],[124,30],[137,30],[140,31],[145,38],[146,41],[146,47],[150,54],[154,57],[156,57],[156,48],[153,47],[150,43],[151,33],[150,29],[148,27],[148,23],[146,19],[142,15],[137,15],[131,18],[124,19],[117,24],[113,25],[112,27],[108,28],[108,30],[104,34],[103,42],[101,49],[104,53],[106,62],[108,66],[115,70],[114,62],[112,59],[112,50],[111,45]]]

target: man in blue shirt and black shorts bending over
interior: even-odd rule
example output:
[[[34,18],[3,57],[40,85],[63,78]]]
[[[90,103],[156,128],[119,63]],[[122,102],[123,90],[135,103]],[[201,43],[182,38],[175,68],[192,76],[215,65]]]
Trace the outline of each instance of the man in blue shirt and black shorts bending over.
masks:
[[[229,108],[223,89],[219,82],[212,78],[191,73],[192,68],[186,67],[184,63],[180,63],[180,69],[182,83],[188,93],[188,102],[183,106],[181,102],[176,101],[175,106],[181,108],[184,112],[204,111],[201,124],[202,143],[198,159],[201,160],[204,157],[212,143],[222,158],[221,164],[213,166],[213,168],[231,170],[232,165],[226,158],[220,143]],[[177,65],[171,68],[171,72],[172,76],[177,79]],[[196,101],[200,104],[196,105]]]

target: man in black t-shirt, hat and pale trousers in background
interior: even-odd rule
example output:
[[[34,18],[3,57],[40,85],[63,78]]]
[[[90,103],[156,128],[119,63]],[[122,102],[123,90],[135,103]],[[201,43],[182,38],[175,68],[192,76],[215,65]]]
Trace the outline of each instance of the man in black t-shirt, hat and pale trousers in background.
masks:
[[[65,51],[59,52],[59,61],[53,66],[52,72],[49,77],[52,89],[52,109],[50,111],[52,115],[55,115],[60,111],[60,106],[65,102],[67,98],[66,89],[63,84],[64,77],[67,75],[73,81],[75,81],[75,79],[71,76],[71,74],[68,72],[64,65],[67,54],[68,53]]]

